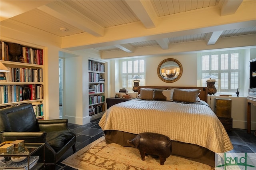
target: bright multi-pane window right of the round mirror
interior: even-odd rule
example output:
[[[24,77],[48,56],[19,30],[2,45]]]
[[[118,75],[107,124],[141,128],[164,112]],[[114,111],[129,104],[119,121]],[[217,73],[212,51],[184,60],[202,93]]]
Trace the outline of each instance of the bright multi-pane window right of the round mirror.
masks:
[[[234,92],[239,88],[239,65],[241,61],[239,51],[219,51],[202,53],[201,77],[208,74],[218,77],[215,87],[217,92]],[[206,79],[202,79],[202,86],[206,87]]]

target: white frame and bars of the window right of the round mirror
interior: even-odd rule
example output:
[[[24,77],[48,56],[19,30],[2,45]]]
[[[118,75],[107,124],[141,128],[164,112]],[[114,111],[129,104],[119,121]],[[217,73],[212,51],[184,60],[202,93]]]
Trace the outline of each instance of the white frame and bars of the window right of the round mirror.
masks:
[[[238,53],[239,57],[238,57],[238,69],[231,69],[230,68],[230,57],[232,53]],[[222,70],[221,67],[221,55],[222,54],[228,54],[228,70]],[[212,55],[218,55],[218,69],[212,69],[212,65],[209,65],[209,70],[203,70],[203,66],[202,66],[202,56],[204,55],[209,55],[210,59]],[[215,83],[215,87],[217,89],[217,93],[216,95],[219,94],[231,94],[231,95],[236,95],[236,90],[237,88],[239,89],[239,91],[243,91],[244,90],[244,83],[242,83],[244,81],[243,75],[244,75],[244,51],[243,50],[229,50],[229,51],[209,51],[209,52],[204,52],[204,53],[199,53],[198,54],[198,59],[200,60],[200,62],[198,62],[199,69],[198,69],[198,76],[200,78],[200,86],[202,87],[207,87],[206,85],[206,80],[207,78],[203,78],[204,76],[208,75],[208,74],[212,74],[216,77],[218,77],[218,79],[216,79],[216,83]],[[223,87],[221,87],[221,74],[222,73],[228,73],[228,89],[223,89]],[[233,87],[231,87],[231,78],[230,78],[230,74],[236,72],[238,73],[238,84],[234,85]]]

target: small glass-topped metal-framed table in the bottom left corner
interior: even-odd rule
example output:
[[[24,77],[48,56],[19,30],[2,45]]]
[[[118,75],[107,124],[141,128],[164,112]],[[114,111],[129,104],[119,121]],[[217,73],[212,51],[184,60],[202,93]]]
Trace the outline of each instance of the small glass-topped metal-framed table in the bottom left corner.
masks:
[[[15,158],[19,158],[19,157],[26,157],[27,162],[28,162],[28,166],[26,168],[23,169],[28,169],[30,170],[30,157],[35,154],[38,150],[43,149],[43,153],[44,153],[44,143],[25,143],[24,146],[21,146],[19,148],[14,148],[13,150],[10,150],[9,152],[6,153],[0,153],[0,156],[4,156],[5,158],[9,158],[11,160],[11,157],[13,158],[13,160]],[[7,162],[7,161],[6,161]],[[10,162],[9,162],[10,163]],[[4,167],[3,165],[0,167],[0,169],[15,169],[15,164],[18,162],[14,162],[14,166],[13,167]],[[44,154],[43,154],[43,162],[36,162],[36,164],[32,167],[33,170],[38,170],[40,168],[43,168],[44,166]],[[17,169],[20,169],[17,167]]]

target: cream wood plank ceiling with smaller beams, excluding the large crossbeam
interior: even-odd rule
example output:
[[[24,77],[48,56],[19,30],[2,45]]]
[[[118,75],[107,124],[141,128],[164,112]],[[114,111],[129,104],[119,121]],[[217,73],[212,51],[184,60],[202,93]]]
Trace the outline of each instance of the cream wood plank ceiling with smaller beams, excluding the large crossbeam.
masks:
[[[3,0],[2,4],[4,2]],[[12,2],[6,1],[6,3]],[[1,19],[1,24],[16,22],[61,38],[84,33],[100,38],[105,36],[108,28],[138,22],[141,22],[146,29],[158,28],[157,20],[186,14],[188,11],[218,8],[220,9],[220,15],[230,15],[236,12],[241,3],[242,0],[55,0],[47,1],[44,5],[21,12],[10,18]],[[2,5],[1,11],[4,12]],[[65,28],[66,31],[60,31],[60,28]],[[247,34],[256,34],[256,26],[232,28],[220,32],[156,38],[155,40],[140,40],[116,45],[95,45],[93,49],[102,52],[124,50],[132,53],[138,47],[160,45],[162,49],[168,49],[169,45],[173,43],[198,40],[206,40],[208,44],[214,44],[218,38]]]

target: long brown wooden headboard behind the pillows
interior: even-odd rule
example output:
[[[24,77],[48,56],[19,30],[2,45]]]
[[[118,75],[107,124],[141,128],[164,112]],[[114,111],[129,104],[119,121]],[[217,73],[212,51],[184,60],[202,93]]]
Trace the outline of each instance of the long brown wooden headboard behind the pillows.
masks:
[[[166,88],[168,89],[170,86],[139,86],[138,88],[138,94],[140,94],[140,89],[142,88],[150,88],[150,89],[162,89]],[[207,87],[171,87],[171,88],[177,88],[177,89],[198,89],[201,90],[199,94],[200,100],[203,100],[207,103]]]

